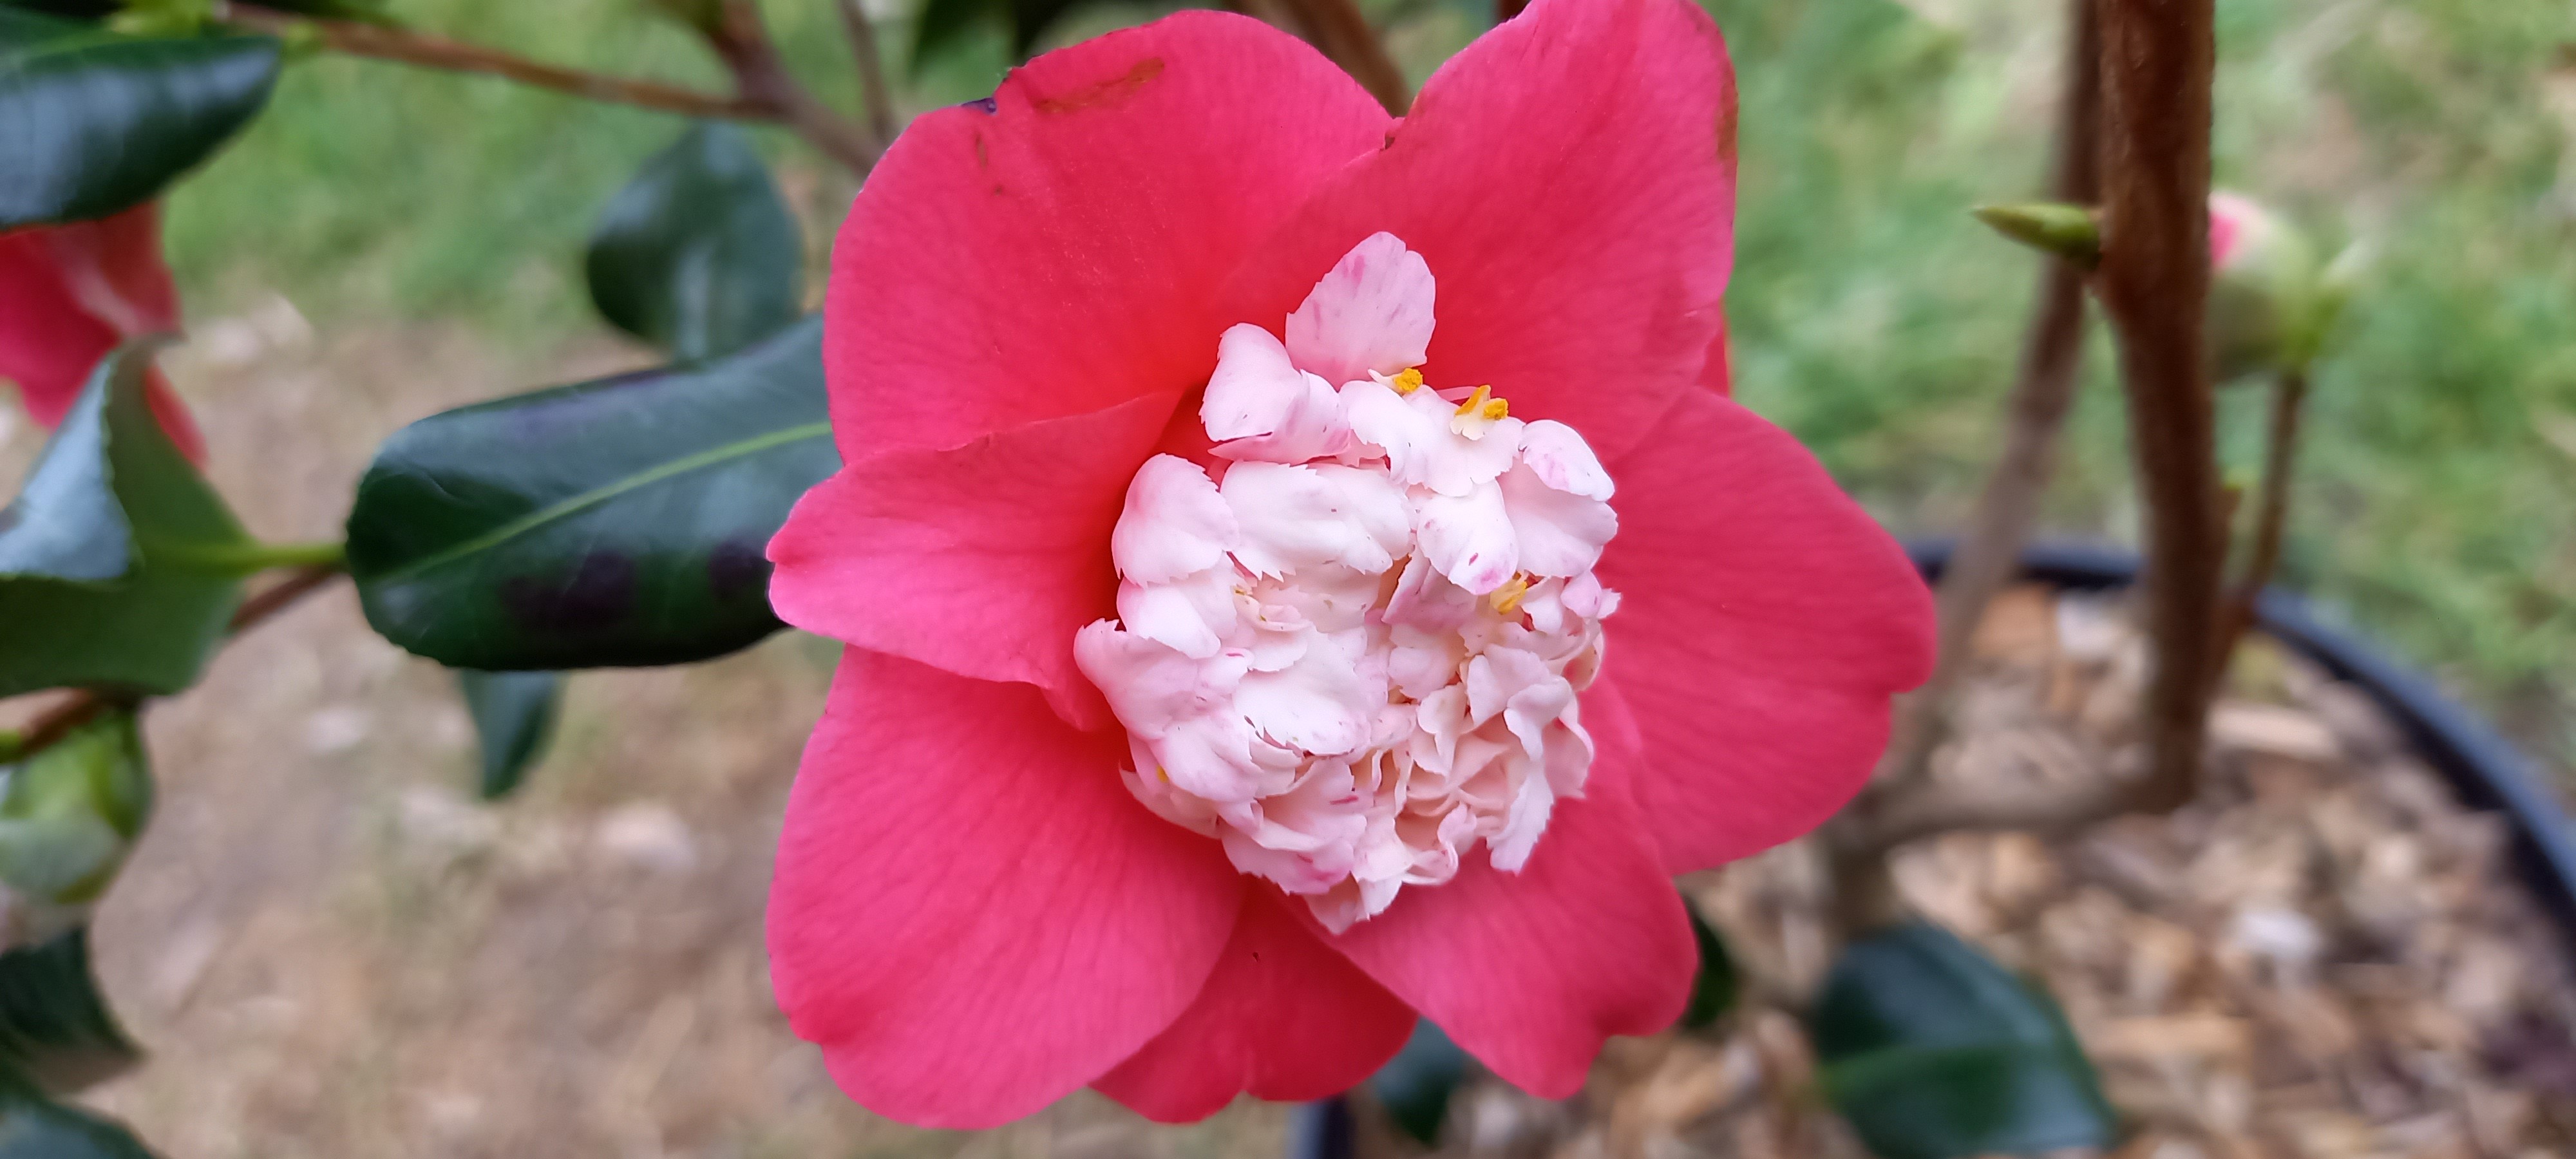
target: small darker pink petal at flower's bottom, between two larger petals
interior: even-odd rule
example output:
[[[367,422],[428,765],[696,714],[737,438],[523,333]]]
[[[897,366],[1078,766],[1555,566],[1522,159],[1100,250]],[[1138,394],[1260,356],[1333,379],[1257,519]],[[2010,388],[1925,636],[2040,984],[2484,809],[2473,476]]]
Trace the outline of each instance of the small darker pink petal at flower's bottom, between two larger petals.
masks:
[[[1358,1087],[1404,1048],[1414,1012],[1332,953],[1273,889],[1247,889],[1234,940],[1198,1002],[1095,1082],[1159,1123],[1213,1115],[1236,1092],[1319,1100]]]

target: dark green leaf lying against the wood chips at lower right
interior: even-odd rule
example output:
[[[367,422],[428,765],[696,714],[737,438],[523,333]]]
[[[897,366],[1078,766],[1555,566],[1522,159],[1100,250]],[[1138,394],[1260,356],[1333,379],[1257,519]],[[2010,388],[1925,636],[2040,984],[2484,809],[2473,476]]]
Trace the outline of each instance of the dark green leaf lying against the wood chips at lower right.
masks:
[[[1842,950],[1814,1038],[1826,1095],[1880,1159],[2110,1146],[2117,1133],[2056,1002],[1940,927]]]

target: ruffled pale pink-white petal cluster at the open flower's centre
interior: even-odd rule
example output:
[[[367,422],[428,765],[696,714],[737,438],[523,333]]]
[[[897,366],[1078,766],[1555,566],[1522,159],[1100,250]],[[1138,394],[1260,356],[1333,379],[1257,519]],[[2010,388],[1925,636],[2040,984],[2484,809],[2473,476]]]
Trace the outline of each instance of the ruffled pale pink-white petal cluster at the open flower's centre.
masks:
[[[1154,456],[1110,538],[1118,618],[1074,639],[1128,729],[1128,788],[1332,930],[1486,842],[1528,863],[1592,765],[1574,693],[1618,531],[1574,428],[1435,391],[1432,273],[1350,250],[1280,343],[1236,325],[1200,420],[1216,476]]]

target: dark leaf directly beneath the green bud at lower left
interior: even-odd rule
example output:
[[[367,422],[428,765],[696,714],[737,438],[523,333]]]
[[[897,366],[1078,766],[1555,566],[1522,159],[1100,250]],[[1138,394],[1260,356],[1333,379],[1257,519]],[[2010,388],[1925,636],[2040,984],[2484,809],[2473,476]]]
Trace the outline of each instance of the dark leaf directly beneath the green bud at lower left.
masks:
[[[0,1084],[70,1095],[137,1059],[90,971],[88,927],[0,953]]]

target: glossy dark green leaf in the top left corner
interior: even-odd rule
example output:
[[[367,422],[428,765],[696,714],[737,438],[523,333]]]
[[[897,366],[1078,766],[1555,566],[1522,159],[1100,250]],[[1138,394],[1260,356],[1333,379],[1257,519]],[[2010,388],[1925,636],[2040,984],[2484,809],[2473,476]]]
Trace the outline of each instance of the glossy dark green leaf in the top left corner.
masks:
[[[276,80],[273,36],[118,36],[0,8],[0,229],[149,201]]]

